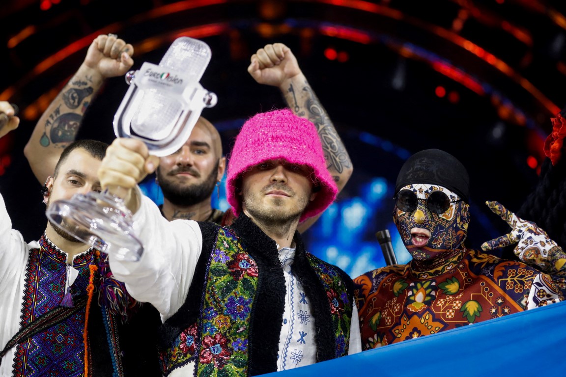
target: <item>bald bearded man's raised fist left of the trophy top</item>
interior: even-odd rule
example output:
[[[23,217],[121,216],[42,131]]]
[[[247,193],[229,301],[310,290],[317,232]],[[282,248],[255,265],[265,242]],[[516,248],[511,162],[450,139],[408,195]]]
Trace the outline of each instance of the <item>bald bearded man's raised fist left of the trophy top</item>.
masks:
[[[115,34],[103,34],[96,37],[88,47],[83,64],[108,79],[125,75],[134,65],[132,55],[134,55],[134,46],[126,44]]]

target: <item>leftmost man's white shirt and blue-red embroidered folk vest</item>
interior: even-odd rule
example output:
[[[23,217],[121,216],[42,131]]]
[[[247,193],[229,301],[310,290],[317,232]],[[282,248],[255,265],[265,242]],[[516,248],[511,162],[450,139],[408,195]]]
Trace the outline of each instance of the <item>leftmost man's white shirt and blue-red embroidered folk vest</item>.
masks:
[[[127,294],[106,255],[91,248],[70,266],[45,234],[26,244],[0,201],[0,347],[22,331],[0,375],[160,375],[158,313]]]

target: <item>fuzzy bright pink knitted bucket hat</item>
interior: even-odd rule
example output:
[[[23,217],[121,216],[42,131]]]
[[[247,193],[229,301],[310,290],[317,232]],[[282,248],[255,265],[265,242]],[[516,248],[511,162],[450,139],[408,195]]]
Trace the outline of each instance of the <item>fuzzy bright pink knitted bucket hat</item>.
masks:
[[[236,193],[238,178],[252,166],[272,159],[285,159],[291,164],[312,168],[320,184],[320,191],[299,222],[318,215],[335,200],[338,188],[326,168],[315,125],[289,109],[260,112],[244,123],[230,153],[226,196],[235,215],[242,210]]]

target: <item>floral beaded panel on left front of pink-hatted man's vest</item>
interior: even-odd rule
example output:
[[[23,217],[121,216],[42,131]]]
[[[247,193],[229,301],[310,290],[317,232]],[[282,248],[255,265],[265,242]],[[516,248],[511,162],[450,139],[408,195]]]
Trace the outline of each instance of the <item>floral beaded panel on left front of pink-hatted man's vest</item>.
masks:
[[[258,275],[258,265],[238,238],[218,229],[201,309],[198,375],[247,375],[247,338]]]

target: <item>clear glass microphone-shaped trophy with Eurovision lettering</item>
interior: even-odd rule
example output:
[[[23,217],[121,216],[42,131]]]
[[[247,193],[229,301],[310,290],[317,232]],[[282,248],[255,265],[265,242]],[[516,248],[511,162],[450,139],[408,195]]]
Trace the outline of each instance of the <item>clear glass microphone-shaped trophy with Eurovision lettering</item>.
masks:
[[[180,37],[158,65],[145,62],[128,72],[130,87],[114,115],[115,135],[145,142],[158,157],[181,148],[204,107],[217,102],[216,94],[199,83],[210,59],[203,41]],[[45,214],[55,226],[113,258],[138,261],[143,253],[130,210],[108,189],[55,201]]]

